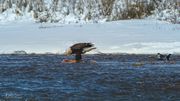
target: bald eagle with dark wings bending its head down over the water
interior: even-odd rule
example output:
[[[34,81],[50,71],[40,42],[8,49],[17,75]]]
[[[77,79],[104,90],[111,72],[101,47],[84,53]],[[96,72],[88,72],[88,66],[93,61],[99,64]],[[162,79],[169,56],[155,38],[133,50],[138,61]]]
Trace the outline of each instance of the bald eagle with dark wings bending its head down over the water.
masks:
[[[75,61],[79,62],[82,59],[82,54],[93,49],[96,49],[96,47],[92,43],[76,43],[66,50],[65,55],[75,54]]]

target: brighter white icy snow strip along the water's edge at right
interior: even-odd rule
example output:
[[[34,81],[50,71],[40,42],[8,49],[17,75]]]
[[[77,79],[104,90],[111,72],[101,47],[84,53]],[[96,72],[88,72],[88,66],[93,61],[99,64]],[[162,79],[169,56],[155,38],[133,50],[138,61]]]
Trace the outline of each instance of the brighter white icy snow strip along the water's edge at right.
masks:
[[[180,53],[180,42],[148,42],[148,43],[129,43],[119,46],[110,46],[106,53],[137,53],[137,54],[154,54],[154,53]]]

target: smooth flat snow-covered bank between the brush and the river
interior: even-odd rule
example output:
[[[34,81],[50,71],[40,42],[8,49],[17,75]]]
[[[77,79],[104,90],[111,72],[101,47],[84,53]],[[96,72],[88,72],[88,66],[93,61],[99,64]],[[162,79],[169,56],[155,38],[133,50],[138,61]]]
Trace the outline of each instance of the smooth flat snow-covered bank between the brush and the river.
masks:
[[[0,23],[0,53],[64,53],[77,42],[92,42],[103,53],[180,53],[179,33],[178,24],[148,19],[94,24]]]

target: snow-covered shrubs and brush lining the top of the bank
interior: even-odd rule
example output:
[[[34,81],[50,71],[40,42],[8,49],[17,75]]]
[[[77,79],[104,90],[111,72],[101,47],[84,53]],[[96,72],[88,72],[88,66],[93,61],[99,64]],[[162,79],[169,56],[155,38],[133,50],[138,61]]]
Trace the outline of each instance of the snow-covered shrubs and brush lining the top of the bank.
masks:
[[[0,23],[97,23],[153,19],[180,23],[179,0],[1,0]]]

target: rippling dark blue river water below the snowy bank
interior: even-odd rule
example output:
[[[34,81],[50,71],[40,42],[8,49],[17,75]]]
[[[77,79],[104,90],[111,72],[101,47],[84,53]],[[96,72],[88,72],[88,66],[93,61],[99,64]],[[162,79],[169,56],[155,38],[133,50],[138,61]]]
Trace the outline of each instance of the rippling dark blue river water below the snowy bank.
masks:
[[[178,101],[180,56],[86,55],[97,63],[61,63],[62,55],[0,55],[0,101]]]

